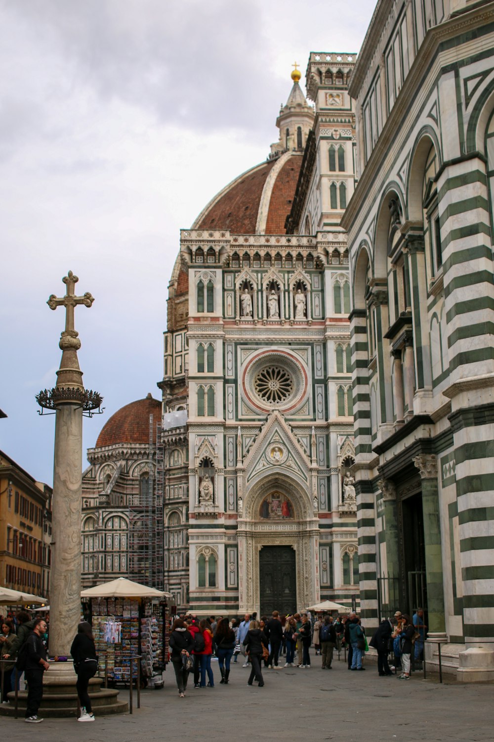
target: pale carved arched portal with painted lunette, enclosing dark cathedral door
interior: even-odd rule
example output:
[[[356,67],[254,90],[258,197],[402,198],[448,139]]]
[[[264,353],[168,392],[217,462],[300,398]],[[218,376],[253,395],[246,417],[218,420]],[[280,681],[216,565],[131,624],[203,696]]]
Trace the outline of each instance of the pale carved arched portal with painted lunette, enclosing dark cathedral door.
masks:
[[[317,602],[318,533],[315,503],[290,473],[247,487],[237,531],[239,610],[287,613]]]

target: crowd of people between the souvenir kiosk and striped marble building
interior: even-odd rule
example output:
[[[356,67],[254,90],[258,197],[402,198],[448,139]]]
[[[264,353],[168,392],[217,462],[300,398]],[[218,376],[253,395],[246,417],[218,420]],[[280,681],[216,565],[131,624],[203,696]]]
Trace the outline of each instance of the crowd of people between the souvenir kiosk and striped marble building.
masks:
[[[170,657],[175,669],[178,695],[185,696],[189,673],[193,672],[194,688],[214,688],[215,679],[211,659],[216,655],[221,674],[220,684],[227,684],[230,663],[244,659],[242,667],[250,668],[247,685],[254,680],[264,686],[263,669],[280,670],[297,666],[311,667],[310,648],[321,657],[321,668],[333,667],[333,653],[346,650],[347,667],[362,672],[364,654],[372,646],[378,656],[378,674],[389,677],[397,669],[400,680],[410,678],[412,653],[415,668],[420,666],[424,650],[424,611],[418,608],[410,619],[396,611],[393,620],[381,621],[372,639],[367,643],[364,626],[356,613],[336,618],[329,615],[311,620],[307,613],[280,616],[278,611],[268,618],[245,614],[244,620],[211,616],[198,620],[196,616],[178,617],[170,633]],[[388,657],[393,654],[393,664]],[[282,658],[285,662],[283,663]],[[394,671],[394,673],[393,673]]]

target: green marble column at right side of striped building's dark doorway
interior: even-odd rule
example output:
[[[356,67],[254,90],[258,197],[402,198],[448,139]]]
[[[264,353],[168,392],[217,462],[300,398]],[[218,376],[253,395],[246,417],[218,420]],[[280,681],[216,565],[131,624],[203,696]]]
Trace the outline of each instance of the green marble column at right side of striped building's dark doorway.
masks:
[[[438,470],[433,454],[415,456],[420,471],[424,513],[425,574],[427,582],[428,634],[444,637],[444,587],[441,555],[441,521],[438,496]]]

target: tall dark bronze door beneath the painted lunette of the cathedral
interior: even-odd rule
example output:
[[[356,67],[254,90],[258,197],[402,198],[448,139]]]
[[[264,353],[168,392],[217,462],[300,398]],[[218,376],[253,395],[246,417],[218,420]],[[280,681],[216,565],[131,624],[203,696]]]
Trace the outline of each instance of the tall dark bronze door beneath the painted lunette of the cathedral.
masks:
[[[296,553],[291,546],[263,546],[259,552],[261,616],[291,615],[297,608]]]

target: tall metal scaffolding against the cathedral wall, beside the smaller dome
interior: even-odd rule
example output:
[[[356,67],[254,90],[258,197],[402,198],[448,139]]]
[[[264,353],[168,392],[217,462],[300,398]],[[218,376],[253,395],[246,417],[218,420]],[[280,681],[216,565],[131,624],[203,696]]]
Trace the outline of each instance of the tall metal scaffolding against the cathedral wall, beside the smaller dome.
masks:
[[[148,476],[129,497],[129,579],[164,589],[163,446],[161,425],[150,415]],[[156,466],[156,473],[155,473]]]

